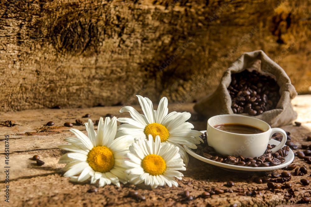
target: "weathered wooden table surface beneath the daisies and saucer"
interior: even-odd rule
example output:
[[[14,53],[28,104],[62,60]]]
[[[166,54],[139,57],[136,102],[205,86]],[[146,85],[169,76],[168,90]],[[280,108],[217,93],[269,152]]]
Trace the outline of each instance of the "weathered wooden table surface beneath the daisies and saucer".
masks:
[[[300,127],[288,125],[282,127],[291,133],[292,142],[301,150],[301,144],[311,144],[306,137],[311,135],[311,95],[301,95],[292,101],[295,110],[298,112],[297,121],[301,122]],[[170,104],[169,112],[188,111],[192,113],[189,122],[193,123],[195,129],[205,130],[206,120],[198,120],[193,110],[193,103]],[[61,155],[66,151],[58,149],[58,145],[65,144],[63,139],[74,136],[68,128],[64,127],[65,122],[75,122],[75,119],[87,121],[82,118],[90,114],[91,119],[98,120],[108,113],[117,117],[126,116],[118,112],[121,106],[114,107],[93,107],[74,109],[40,109],[25,110],[17,112],[1,112],[0,121],[13,120],[16,125],[13,127],[0,127],[0,206],[230,206],[236,203],[238,206],[276,206],[285,204],[297,204],[303,196],[310,196],[310,186],[302,186],[301,178],[310,178],[310,165],[302,159],[295,157],[294,163],[298,166],[306,166],[308,173],[304,176],[292,176],[290,183],[292,188],[280,190],[268,190],[266,184],[256,184],[255,177],[262,174],[256,172],[235,173],[217,168],[213,165],[196,160],[190,156],[187,170],[183,172],[184,178],[178,181],[178,187],[158,187],[151,190],[144,185],[134,186],[131,184],[122,185],[118,188],[114,185],[98,188],[98,192],[87,192],[93,186],[88,182],[72,183],[69,178],[64,178],[62,168],[64,164],[57,164]],[[135,106],[139,111],[139,106]],[[53,127],[44,126],[47,122],[53,121]],[[74,126],[84,132],[84,126]],[[4,139],[9,135],[9,203],[4,202]],[[295,151],[294,151],[295,152]],[[39,155],[45,162],[43,166],[37,166],[35,161],[29,160],[33,155]],[[281,173],[283,170],[275,170]],[[267,172],[271,173],[271,172]],[[293,171],[291,172],[293,175]],[[310,178],[311,179],[311,178]],[[234,181],[233,193],[213,195],[209,198],[202,198],[200,195],[205,189],[218,187],[227,189],[225,183]],[[262,195],[243,196],[238,194],[242,190],[254,190],[259,188]],[[193,200],[184,199],[183,192],[190,191]],[[137,191],[145,196],[146,200],[139,201],[128,196],[129,191]],[[285,200],[284,194],[291,195],[290,200]],[[301,205],[303,206],[303,205]]]

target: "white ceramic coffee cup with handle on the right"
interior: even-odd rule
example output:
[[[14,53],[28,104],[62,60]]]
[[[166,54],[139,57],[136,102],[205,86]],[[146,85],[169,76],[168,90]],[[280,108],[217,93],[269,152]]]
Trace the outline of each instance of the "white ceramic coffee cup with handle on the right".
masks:
[[[213,126],[217,124],[244,124],[261,129],[262,133],[238,134],[225,132]],[[287,135],[283,129],[271,128],[266,122],[243,115],[217,115],[207,120],[207,143],[221,155],[235,157],[259,157],[267,149],[268,142],[274,133],[281,133],[283,139],[280,144],[272,149],[276,152],[286,142]]]

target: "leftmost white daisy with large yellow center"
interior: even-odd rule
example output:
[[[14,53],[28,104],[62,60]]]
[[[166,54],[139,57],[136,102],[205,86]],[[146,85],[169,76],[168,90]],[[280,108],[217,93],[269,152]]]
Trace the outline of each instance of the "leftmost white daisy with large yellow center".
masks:
[[[77,129],[70,129],[77,138],[64,139],[69,145],[60,145],[60,149],[72,151],[63,155],[58,163],[67,164],[64,177],[70,177],[73,182],[83,182],[91,178],[91,184],[99,180],[99,186],[113,183],[120,187],[120,182],[128,181],[124,168],[124,159],[128,153],[128,137],[116,137],[117,119],[113,117],[105,121],[101,117],[97,134],[93,122],[85,123],[88,137]],[[79,174],[79,176],[75,176]]]

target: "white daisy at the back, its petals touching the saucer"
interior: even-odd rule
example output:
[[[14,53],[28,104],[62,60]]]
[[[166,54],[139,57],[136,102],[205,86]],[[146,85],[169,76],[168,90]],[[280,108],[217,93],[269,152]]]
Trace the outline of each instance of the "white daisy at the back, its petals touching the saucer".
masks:
[[[118,126],[118,136],[131,135],[134,138],[146,139],[149,134],[153,139],[160,136],[161,142],[170,143],[179,147],[179,153],[183,161],[187,164],[189,157],[187,152],[180,144],[196,149],[197,144],[203,140],[199,137],[201,132],[192,130],[194,126],[186,122],[191,117],[188,112],[171,112],[168,114],[167,98],[163,97],[160,100],[158,110],[153,110],[153,105],[150,99],[142,96],[137,96],[144,115],[139,114],[131,106],[124,106],[120,112],[129,112],[132,118],[118,118],[121,124]]]

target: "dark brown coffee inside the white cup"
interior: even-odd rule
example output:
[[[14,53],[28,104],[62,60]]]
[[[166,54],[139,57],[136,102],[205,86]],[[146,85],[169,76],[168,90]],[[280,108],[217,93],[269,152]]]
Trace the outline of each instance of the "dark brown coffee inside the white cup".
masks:
[[[236,134],[258,134],[263,131],[260,128],[244,125],[244,124],[217,124],[216,129]]]

